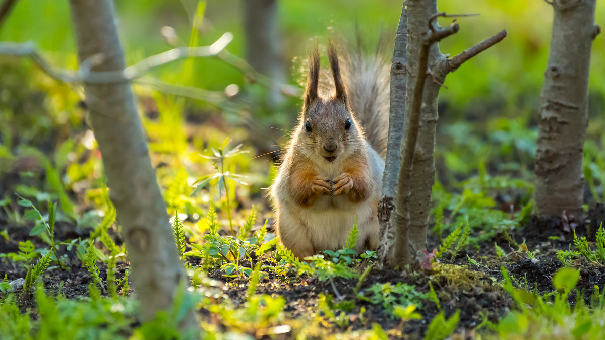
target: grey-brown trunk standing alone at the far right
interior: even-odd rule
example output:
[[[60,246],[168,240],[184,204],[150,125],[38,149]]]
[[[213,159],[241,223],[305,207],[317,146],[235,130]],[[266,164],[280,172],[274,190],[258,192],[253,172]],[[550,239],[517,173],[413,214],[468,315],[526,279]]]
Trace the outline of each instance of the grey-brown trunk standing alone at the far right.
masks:
[[[596,0],[553,0],[551,47],[538,113],[535,200],[544,217],[581,218],[590,48]]]

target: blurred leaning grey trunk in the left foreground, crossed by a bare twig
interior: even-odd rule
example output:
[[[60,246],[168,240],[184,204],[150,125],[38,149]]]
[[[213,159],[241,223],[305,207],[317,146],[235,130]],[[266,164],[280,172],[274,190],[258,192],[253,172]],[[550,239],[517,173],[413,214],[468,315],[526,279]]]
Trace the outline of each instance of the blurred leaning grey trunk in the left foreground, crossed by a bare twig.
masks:
[[[70,0],[80,63],[92,71],[125,68],[111,0]],[[88,121],[99,143],[111,201],[117,209],[132,265],[143,321],[172,307],[187,276],[151,166],[129,82],[84,83]],[[191,327],[193,311],[181,325]]]

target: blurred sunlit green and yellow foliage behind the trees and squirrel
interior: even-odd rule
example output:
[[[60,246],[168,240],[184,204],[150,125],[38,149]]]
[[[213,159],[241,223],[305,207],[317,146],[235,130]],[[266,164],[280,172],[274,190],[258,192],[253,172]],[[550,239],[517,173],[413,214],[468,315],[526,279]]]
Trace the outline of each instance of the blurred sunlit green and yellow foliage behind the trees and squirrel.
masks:
[[[190,193],[179,185],[191,184],[213,171],[197,154],[220,147],[226,137],[232,140],[229,145],[243,143],[249,152],[237,156],[240,158],[232,163],[231,171],[245,174],[250,189],[233,190],[232,195],[246,208],[250,200],[262,200],[262,189],[270,185],[275,170],[272,159],[287,143],[287,131],[300,110],[299,87],[304,80],[300,68],[307,48],[316,41],[320,46],[325,44],[332,32],[350,36],[356,24],[370,44],[378,40],[381,30],[392,35],[401,6],[399,0],[116,1],[128,65],[174,47],[209,45],[226,32],[233,34],[228,53],[179,60],[135,83],[152,158],[168,193],[169,206],[174,198],[174,206],[185,201],[188,209],[196,210],[186,198]],[[527,201],[532,192],[535,123],[548,58],[552,7],[541,0],[441,0],[439,10],[480,13],[457,19],[459,33],[440,44],[444,54],[458,54],[503,28],[508,37],[446,79],[447,88],[440,92],[436,190],[463,191],[477,183],[473,176],[486,173],[508,178],[494,187],[523,189],[521,199]],[[446,25],[451,19],[440,21]],[[603,1],[597,2],[596,21],[603,26]],[[262,34],[266,27],[271,43],[261,45],[255,42],[255,34]],[[77,68],[67,1],[17,1],[0,27],[0,40],[34,42],[56,67]],[[601,152],[604,45],[605,34],[600,34],[592,47],[585,151],[587,203],[602,200],[601,183],[605,182]],[[392,47],[385,52],[388,60],[391,53]],[[268,77],[252,71],[250,65]],[[83,199],[93,199],[94,191],[88,189],[102,186],[102,178],[98,171],[91,175],[85,170],[86,166],[97,166],[98,170],[99,162],[98,157],[88,156],[94,155],[94,138],[83,123],[79,85],[57,82],[31,60],[19,57],[0,56],[0,74],[0,142],[4,148],[0,149],[0,174],[4,171],[0,199],[16,190],[7,184],[7,174],[31,172],[27,162],[15,165],[15,160],[39,152],[51,155],[46,167],[55,169],[68,195],[85,188],[88,194]],[[276,82],[293,86],[281,87]],[[8,162],[3,168],[2,157],[12,160],[10,169]],[[512,182],[516,179],[522,181]],[[206,195],[202,200],[212,198]]]

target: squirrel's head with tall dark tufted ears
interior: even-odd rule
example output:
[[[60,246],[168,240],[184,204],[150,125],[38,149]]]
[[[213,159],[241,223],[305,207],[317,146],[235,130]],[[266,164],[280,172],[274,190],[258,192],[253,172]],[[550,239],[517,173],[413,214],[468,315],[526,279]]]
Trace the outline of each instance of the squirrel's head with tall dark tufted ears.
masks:
[[[355,154],[362,147],[363,132],[347,102],[335,46],[328,45],[328,59],[334,78],[331,95],[318,93],[319,51],[309,54],[309,76],[298,126],[302,152],[315,162],[335,162]]]

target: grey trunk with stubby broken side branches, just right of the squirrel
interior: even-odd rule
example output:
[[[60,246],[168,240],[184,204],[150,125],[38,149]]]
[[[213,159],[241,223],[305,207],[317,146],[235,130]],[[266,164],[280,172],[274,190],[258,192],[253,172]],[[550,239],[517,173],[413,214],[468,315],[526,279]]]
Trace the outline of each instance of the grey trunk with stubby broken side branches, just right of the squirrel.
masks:
[[[405,105],[403,105],[405,110],[403,139],[407,142],[399,143],[397,152],[401,152],[400,155],[393,156],[393,150],[387,149],[386,164],[393,162],[396,159],[395,157],[398,157],[397,161],[401,164],[398,168],[399,175],[397,177],[394,204],[389,196],[393,189],[387,188],[393,183],[391,178],[393,176],[391,171],[394,171],[393,166],[385,168],[383,180],[385,188],[383,188],[383,197],[379,204],[382,239],[378,249],[378,257],[382,265],[390,266],[416,263],[422,261],[424,257],[422,250],[425,249],[427,241],[431,191],[433,190],[435,174],[433,157],[438,117],[437,97],[445,76],[455,71],[466,60],[476,56],[506,36],[506,31],[501,31],[463,53],[448,59],[439,51],[437,42],[446,36],[440,36],[440,34],[451,32],[453,26],[442,30],[436,20],[432,21],[433,24],[430,26],[431,18],[437,16],[437,1],[407,0],[404,7],[407,8],[407,13],[405,13],[407,15],[407,52],[405,56],[407,84],[414,84],[407,88]],[[429,30],[429,28],[431,29]],[[421,57],[420,51],[423,50],[423,44],[427,42],[428,36],[436,39],[431,42],[428,51],[426,48],[424,49],[427,54]],[[396,49],[399,46],[396,45]],[[420,73],[423,79],[418,79],[420,60],[423,63],[427,62],[428,65],[428,71]],[[391,76],[393,76],[393,73],[391,73]],[[426,81],[424,77],[426,77]],[[420,82],[417,82],[417,80],[420,80]],[[416,83],[423,87],[422,90],[416,91]],[[391,79],[391,86],[392,84],[393,79]],[[394,101],[401,100],[401,97],[397,97],[401,93],[393,92],[391,91],[391,110],[394,107],[401,107],[399,101]],[[413,114],[413,110],[416,110],[416,114]],[[391,124],[393,124],[393,120],[390,121]],[[410,132],[410,129],[414,129],[414,131]],[[388,148],[395,148],[397,145],[392,139],[399,139],[399,136],[401,136],[401,134],[392,134],[392,131],[396,132],[396,128],[390,126]],[[414,136],[408,136],[410,133],[413,133]],[[408,147],[407,144],[410,142],[414,145]]]

